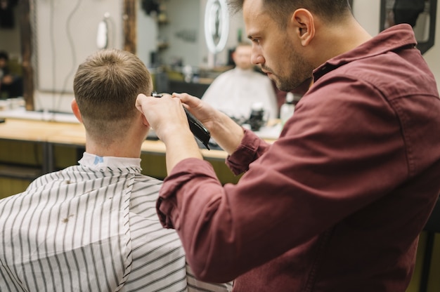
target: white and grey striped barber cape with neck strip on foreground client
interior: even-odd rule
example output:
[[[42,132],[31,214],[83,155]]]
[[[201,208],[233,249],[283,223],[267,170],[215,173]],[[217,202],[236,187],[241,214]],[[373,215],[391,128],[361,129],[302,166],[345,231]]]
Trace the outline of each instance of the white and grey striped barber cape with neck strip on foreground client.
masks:
[[[231,291],[198,281],[140,159],[84,153],[0,200],[0,291]]]

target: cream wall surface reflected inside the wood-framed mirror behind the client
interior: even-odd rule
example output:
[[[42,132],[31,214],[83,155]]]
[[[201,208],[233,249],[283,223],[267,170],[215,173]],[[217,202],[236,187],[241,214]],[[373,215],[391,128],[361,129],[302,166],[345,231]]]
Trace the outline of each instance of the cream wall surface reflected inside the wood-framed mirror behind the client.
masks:
[[[36,110],[70,112],[78,65],[98,50],[98,23],[108,13],[108,47],[122,48],[122,0],[33,0]]]

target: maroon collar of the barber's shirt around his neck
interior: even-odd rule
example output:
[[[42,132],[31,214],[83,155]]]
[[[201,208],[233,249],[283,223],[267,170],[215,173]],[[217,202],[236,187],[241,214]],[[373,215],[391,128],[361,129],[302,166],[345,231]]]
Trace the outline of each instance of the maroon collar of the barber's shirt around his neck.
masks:
[[[417,41],[415,40],[414,32],[410,25],[394,25],[380,32],[380,34],[377,34],[377,36],[370,39],[370,41],[361,44],[361,46],[347,53],[337,55],[335,58],[331,58],[313,71],[313,77],[316,81],[333,69],[354,60],[381,55],[389,51],[396,51],[399,48],[415,47],[416,45]]]

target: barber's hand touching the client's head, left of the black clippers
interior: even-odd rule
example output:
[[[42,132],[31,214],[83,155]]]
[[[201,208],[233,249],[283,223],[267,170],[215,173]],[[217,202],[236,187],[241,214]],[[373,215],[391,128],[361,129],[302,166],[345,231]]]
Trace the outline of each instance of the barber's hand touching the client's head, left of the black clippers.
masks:
[[[164,142],[176,133],[190,133],[188,119],[179,98],[172,98],[169,94],[162,95],[162,98],[139,94],[136,108],[144,114],[157,137]]]

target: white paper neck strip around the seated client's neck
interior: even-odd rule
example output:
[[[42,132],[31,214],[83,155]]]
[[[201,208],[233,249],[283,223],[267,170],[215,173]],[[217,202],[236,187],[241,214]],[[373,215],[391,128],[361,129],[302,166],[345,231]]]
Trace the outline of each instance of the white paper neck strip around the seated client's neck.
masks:
[[[129,172],[141,173],[141,159],[127,157],[100,157],[95,154],[84,152],[79,164],[93,169],[94,171],[105,171],[106,169],[127,168]]]

